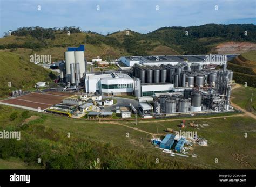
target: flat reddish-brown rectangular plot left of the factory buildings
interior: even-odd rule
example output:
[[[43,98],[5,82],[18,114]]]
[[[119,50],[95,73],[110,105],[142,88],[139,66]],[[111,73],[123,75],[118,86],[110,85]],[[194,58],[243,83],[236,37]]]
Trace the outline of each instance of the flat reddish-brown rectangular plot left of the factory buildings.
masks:
[[[65,96],[50,95],[46,93],[29,93],[27,95],[2,100],[3,103],[26,106],[37,109],[46,109],[54,104],[62,102]]]

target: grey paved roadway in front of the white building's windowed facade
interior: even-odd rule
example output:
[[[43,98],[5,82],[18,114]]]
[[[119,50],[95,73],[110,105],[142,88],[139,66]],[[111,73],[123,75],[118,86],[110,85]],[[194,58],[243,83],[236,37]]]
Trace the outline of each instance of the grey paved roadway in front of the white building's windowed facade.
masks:
[[[111,98],[111,96],[104,96],[104,98]],[[116,107],[128,107],[129,104],[133,104],[133,106],[138,107],[138,100],[134,99],[127,99],[127,98],[120,98],[120,97],[113,97],[113,99],[117,100],[116,104],[113,104],[111,106],[104,106],[104,109],[102,111],[112,111],[116,112]]]

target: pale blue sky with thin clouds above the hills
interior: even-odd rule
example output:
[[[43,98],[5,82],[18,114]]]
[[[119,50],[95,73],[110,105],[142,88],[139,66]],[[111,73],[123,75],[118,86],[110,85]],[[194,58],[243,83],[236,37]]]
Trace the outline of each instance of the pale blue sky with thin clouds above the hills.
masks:
[[[207,23],[256,24],[256,0],[0,0],[0,36],[23,26],[76,26],[107,34]]]

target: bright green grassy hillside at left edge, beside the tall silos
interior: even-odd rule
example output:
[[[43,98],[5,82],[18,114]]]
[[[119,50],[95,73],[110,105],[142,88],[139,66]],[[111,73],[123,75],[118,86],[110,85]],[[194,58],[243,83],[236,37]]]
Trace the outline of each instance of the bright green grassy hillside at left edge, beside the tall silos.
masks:
[[[31,88],[36,82],[50,80],[50,71],[31,63],[26,55],[0,51],[0,67],[0,98],[11,90]]]

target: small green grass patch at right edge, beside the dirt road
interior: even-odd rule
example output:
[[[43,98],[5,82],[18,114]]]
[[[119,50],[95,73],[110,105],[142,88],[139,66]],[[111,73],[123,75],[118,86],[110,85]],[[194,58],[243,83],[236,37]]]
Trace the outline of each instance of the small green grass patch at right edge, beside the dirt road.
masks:
[[[234,104],[256,114],[256,88],[241,85],[241,87],[232,90],[231,97]]]

